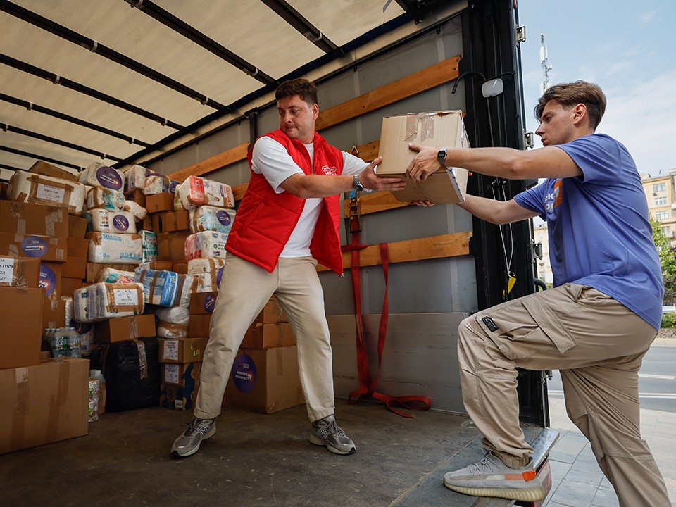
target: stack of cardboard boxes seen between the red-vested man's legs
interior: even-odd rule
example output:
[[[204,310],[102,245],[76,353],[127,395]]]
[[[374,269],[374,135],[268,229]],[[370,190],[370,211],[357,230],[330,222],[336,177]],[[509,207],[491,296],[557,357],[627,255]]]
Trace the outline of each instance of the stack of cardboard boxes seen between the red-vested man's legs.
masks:
[[[273,297],[244,336],[226,389],[227,405],[273,413],[302,405],[291,326]]]

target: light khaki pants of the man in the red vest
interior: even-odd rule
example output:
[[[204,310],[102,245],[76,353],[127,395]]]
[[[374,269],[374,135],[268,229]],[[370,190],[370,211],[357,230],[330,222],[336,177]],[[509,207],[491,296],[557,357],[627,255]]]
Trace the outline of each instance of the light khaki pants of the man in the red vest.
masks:
[[[273,294],[287,314],[296,339],[308,417],[315,421],[334,413],[332,350],[316,265],[311,257],[280,258],[277,268],[268,273],[227,254],[211,315],[195,417],[208,419],[220,414],[225,385],[239,345]]]

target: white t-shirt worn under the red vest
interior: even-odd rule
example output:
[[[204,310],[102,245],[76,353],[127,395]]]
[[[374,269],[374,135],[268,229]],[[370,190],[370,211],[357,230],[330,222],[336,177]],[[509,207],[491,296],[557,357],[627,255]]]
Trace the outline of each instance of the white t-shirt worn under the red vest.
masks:
[[[308,154],[310,154],[310,160],[312,161],[315,152],[314,144],[305,144],[305,147],[308,149]],[[357,158],[346,151],[343,151],[342,154],[342,174],[355,175],[361,173],[368,165],[361,158]],[[289,176],[298,173],[304,174],[303,170],[296,165],[294,159],[291,158],[291,155],[288,154],[284,146],[270,137],[261,137],[253,144],[251,168],[254,173],[263,175],[277,194],[284,192],[284,189],[280,185]],[[315,233],[322,201],[323,199],[315,197],[305,200],[305,207],[303,208],[303,213],[301,213],[301,218],[299,218],[296,228],[291,233],[289,241],[284,246],[280,257],[307,257],[311,255],[310,242]]]

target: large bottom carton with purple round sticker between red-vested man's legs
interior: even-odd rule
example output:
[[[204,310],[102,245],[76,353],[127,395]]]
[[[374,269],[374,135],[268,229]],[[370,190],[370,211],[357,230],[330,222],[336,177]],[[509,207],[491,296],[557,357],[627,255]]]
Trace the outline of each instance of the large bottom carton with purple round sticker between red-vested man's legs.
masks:
[[[305,403],[296,346],[239,349],[225,389],[227,406],[273,413]]]

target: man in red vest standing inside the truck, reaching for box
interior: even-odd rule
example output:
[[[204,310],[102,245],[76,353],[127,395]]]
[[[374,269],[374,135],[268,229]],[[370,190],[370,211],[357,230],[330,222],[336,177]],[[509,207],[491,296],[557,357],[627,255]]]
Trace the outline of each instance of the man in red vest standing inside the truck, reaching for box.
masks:
[[[174,442],[175,457],[191,456],[215,433],[239,344],[273,294],[296,339],[310,442],[337,454],[356,451],[334,417],[332,349],[315,266],[319,262],[342,274],[339,194],[401,190],[406,182],[377,177],[380,157],[367,164],[315,132],[319,106],[313,83],[283,82],[275,99],[280,128],[249,151],[251,180],[225,246],[194,419]]]

